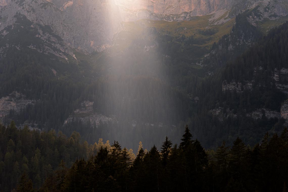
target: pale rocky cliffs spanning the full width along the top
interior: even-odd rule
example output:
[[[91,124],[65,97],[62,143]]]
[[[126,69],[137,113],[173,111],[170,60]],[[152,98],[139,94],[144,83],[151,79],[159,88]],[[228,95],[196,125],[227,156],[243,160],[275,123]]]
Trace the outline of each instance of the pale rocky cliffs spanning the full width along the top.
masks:
[[[13,25],[20,13],[34,24],[50,26],[70,47],[92,53],[112,45],[122,21],[181,21],[207,14],[229,18],[256,7],[249,18],[255,22],[287,15],[287,4],[287,0],[0,0],[0,30]]]

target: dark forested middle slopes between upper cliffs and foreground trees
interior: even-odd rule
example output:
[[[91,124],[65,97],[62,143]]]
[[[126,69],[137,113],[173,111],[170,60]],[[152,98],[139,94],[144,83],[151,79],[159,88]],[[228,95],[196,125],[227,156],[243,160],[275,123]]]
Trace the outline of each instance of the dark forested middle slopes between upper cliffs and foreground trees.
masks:
[[[116,45],[109,51],[90,55],[75,53],[77,59],[64,55],[68,60],[27,48],[31,42],[40,48],[46,46],[35,38],[39,33],[37,28],[58,39],[60,44],[62,41],[48,26],[32,27],[24,15],[17,14],[14,17],[16,24],[13,28],[7,27],[6,30],[10,32],[0,40],[3,46],[11,43],[10,39],[20,43],[19,49],[15,46],[5,49],[5,57],[1,59],[0,96],[13,96],[16,91],[28,101],[35,102],[33,105],[23,105],[21,110],[8,111],[3,124],[14,120],[17,126],[29,124],[43,130],[54,128],[56,132],[61,130],[66,135],[77,131],[88,143],[94,143],[95,138],[101,135],[104,139],[117,139],[135,149],[138,141],[159,146],[163,135],[171,135],[171,139],[179,141],[181,127],[187,123],[206,148],[215,148],[227,138],[227,143],[231,145],[236,137],[254,145],[266,131],[271,131],[275,126],[281,127],[283,120],[256,120],[247,117],[246,113],[262,106],[279,111],[286,96],[271,85],[262,86],[260,92],[254,89],[242,93],[223,93],[222,82],[253,80],[254,65],[260,62],[257,66],[261,66],[266,62],[261,51],[276,51],[273,55],[266,55],[270,55],[271,65],[277,63],[280,49],[275,46],[265,50],[258,48],[268,46],[267,43],[277,36],[277,42],[273,45],[281,42],[281,51],[284,51],[287,24],[264,36],[259,28],[247,21],[249,14],[246,11],[238,15],[236,23],[231,26],[232,31],[220,38],[219,42],[211,43],[210,50],[202,45],[209,43],[207,38],[213,34],[200,30],[190,36],[183,32],[174,36],[166,34],[164,28],[157,30],[154,27],[156,24],[150,26],[140,22],[125,24],[127,28],[136,28],[136,32],[119,33]],[[201,18],[197,18],[197,21],[200,22]],[[221,26],[221,29],[224,27]],[[25,38],[19,38],[20,34],[25,34]],[[205,38],[201,40],[202,36]],[[125,46],[122,39],[127,40]],[[251,50],[244,53],[251,46]],[[209,56],[204,57],[206,53]],[[244,55],[241,56],[242,53]],[[250,60],[237,59],[246,57],[245,54],[251,55]],[[201,60],[203,67],[195,64],[201,63]],[[251,62],[253,65],[250,65]],[[270,62],[266,63],[270,65]],[[268,70],[275,67],[274,64]],[[281,67],[285,68],[285,61]],[[247,74],[244,74],[245,69],[249,70]],[[243,77],[239,76],[240,73],[235,74],[238,70]],[[262,84],[266,84],[263,79],[269,76],[265,74],[256,74],[257,79],[262,79]],[[267,96],[267,99],[258,98],[259,93]],[[88,115],[113,116],[114,120],[96,123],[95,118],[79,119],[75,111],[83,101],[93,102]],[[223,122],[219,122],[211,115],[211,110],[219,107],[229,109],[236,118],[224,118]],[[65,124],[68,118],[71,118],[71,122]],[[258,131],[252,128],[255,124],[259,127]]]

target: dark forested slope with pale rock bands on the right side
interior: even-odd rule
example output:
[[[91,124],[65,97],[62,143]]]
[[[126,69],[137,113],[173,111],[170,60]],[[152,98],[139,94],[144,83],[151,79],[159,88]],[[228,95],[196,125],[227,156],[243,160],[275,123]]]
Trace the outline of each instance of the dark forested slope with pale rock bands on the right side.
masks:
[[[287,27],[286,22],[271,30],[203,81],[191,124],[208,145],[236,137],[252,144],[287,125]]]

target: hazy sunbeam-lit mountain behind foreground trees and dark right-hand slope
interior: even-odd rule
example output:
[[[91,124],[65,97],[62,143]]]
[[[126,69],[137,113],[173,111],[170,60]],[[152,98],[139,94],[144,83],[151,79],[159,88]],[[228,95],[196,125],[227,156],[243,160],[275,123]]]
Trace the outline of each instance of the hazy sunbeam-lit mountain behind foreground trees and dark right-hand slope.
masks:
[[[217,1],[209,6],[193,1],[197,10],[188,2],[189,12],[182,13],[173,1],[165,2],[164,12],[154,11],[160,1],[127,2],[2,1],[1,122],[15,120],[17,126],[54,128],[67,135],[76,130],[91,143],[101,137],[129,146],[139,141],[160,145],[165,134],[179,141],[186,123],[204,147],[232,135],[223,128],[228,116],[221,116],[232,108],[225,99],[219,102],[219,95],[222,87],[234,90],[236,85],[238,90],[248,80],[219,76],[227,63],[287,19],[287,1]],[[141,7],[149,3],[153,10]],[[217,93],[213,97],[206,89],[210,86]],[[262,102],[245,116],[254,111],[259,116],[262,108],[277,116],[284,100],[279,94],[274,107],[261,107]],[[257,142],[276,123],[247,143]]]

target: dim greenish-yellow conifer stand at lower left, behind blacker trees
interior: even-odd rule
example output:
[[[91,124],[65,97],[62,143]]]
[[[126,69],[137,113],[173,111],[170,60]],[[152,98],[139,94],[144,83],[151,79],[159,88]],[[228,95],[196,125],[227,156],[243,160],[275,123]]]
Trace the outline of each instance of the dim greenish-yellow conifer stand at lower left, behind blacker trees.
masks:
[[[0,124],[0,190],[12,191],[24,172],[38,188],[61,160],[70,167],[96,151],[97,145],[88,145],[76,132],[67,138],[61,131],[17,128],[13,121],[7,127]]]

